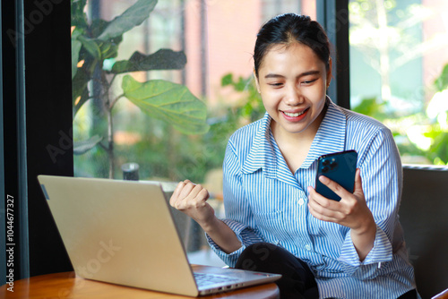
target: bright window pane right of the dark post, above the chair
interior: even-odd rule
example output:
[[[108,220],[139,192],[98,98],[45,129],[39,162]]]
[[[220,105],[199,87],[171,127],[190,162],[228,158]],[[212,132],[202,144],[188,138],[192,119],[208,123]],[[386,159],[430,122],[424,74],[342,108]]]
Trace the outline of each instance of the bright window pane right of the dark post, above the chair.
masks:
[[[393,132],[403,163],[448,163],[448,3],[350,0],[350,103]]]

